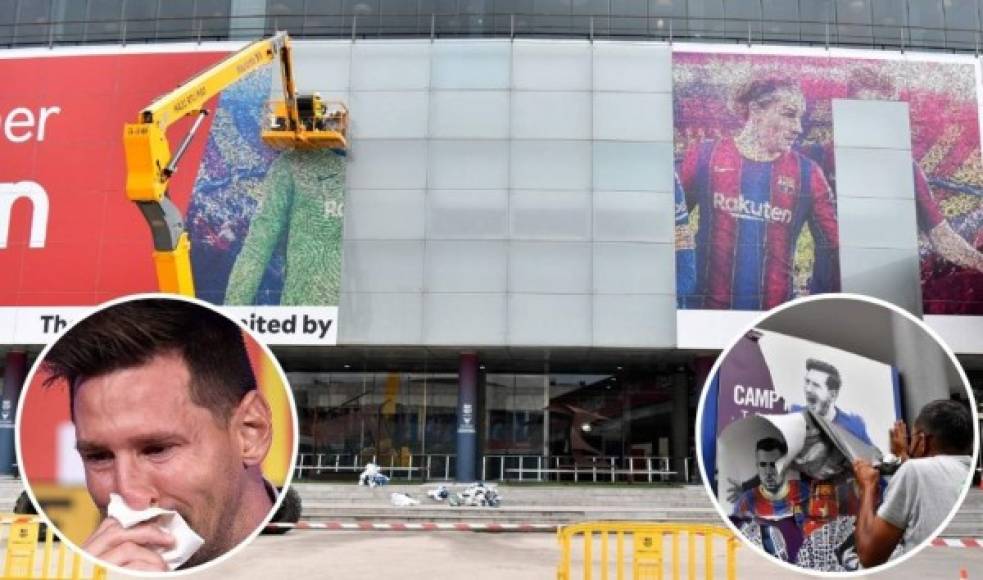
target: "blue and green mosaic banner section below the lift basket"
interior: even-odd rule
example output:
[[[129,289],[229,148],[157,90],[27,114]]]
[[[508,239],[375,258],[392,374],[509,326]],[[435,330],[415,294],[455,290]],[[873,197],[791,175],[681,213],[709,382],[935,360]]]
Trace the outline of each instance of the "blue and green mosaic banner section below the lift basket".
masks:
[[[336,306],[345,157],[262,142],[271,73],[227,89],[215,111],[188,209],[197,294],[227,305]]]

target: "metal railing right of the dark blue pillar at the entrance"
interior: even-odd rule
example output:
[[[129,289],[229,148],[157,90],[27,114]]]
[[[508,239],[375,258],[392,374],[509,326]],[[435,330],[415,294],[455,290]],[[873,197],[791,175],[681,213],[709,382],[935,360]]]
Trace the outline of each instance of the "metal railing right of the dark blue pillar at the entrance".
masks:
[[[485,455],[484,481],[639,482],[689,481],[690,458],[658,456]]]

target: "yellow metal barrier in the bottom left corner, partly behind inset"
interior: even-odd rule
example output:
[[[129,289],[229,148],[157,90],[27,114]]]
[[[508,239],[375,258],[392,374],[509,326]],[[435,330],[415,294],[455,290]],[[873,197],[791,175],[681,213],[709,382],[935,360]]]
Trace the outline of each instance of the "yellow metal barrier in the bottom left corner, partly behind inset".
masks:
[[[6,528],[9,527],[9,530]],[[45,580],[105,580],[106,569],[91,565],[91,575],[82,575],[82,557],[70,552],[59,542],[57,553],[51,526],[45,526],[44,544],[38,545],[38,531],[41,519],[38,516],[20,514],[0,514],[0,528],[6,532],[6,549],[3,552],[2,580],[26,580],[44,578]],[[0,532],[2,537],[2,532]],[[41,548],[41,565],[38,567],[38,548]],[[69,570],[66,572],[66,567]]]

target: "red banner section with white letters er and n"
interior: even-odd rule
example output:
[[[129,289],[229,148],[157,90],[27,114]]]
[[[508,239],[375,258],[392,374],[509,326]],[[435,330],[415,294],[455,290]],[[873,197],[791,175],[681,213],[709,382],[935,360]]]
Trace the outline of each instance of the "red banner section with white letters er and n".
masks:
[[[149,229],[124,191],[123,125],[223,55],[0,59],[0,306],[92,305],[156,290]],[[172,150],[189,126],[168,132]],[[182,209],[205,141],[195,140],[172,180]]]

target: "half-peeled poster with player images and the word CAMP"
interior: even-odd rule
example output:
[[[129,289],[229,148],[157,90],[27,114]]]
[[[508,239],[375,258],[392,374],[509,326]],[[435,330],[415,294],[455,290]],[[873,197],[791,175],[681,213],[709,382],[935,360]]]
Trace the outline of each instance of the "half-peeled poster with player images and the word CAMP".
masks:
[[[857,515],[851,463],[889,453],[890,430],[901,418],[896,370],[753,330],[727,353],[708,397],[715,399],[714,449],[703,459],[734,525],[782,561],[856,569],[854,552],[844,548]]]

